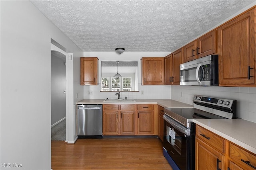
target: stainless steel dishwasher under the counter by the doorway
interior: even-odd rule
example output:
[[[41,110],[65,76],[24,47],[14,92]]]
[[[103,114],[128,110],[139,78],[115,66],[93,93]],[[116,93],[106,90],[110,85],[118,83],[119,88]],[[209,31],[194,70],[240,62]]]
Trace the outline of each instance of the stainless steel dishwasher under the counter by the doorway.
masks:
[[[102,105],[77,105],[78,138],[102,138]]]

